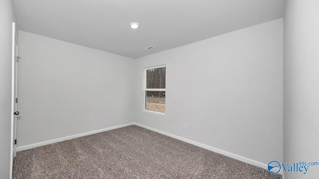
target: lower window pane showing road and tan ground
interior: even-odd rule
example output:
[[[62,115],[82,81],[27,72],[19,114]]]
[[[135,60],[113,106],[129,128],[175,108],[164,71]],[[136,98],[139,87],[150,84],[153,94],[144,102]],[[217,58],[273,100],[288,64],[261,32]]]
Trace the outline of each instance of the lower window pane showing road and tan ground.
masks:
[[[146,91],[145,109],[165,113],[165,91]]]

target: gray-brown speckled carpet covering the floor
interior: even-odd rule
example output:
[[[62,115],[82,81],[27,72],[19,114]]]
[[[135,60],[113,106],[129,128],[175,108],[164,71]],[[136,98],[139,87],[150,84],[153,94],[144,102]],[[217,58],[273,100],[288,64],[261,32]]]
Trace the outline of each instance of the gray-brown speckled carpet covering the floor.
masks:
[[[17,152],[13,179],[281,179],[136,125]]]

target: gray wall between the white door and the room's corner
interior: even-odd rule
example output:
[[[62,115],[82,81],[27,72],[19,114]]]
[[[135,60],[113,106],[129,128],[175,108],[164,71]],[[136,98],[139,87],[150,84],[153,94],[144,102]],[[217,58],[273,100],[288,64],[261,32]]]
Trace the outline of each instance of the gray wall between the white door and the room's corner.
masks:
[[[17,147],[132,122],[131,58],[23,31],[18,37]]]

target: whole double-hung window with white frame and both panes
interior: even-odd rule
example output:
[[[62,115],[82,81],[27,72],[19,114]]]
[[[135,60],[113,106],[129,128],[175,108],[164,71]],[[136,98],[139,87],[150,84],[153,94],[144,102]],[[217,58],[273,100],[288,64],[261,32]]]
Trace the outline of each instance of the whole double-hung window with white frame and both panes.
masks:
[[[144,110],[165,113],[165,77],[164,65],[145,69],[144,77]]]

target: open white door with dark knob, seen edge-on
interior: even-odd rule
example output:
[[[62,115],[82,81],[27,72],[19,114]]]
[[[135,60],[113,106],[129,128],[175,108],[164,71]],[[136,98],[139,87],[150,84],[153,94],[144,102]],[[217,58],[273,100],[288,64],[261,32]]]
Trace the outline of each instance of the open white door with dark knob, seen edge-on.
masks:
[[[16,123],[17,115],[17,73],[18,73],[18,41],[15,23],[12,22],[12,105],[11,105],[11,156],[10,156],[10,179],[12,177],[13,159],[16,153]]]

